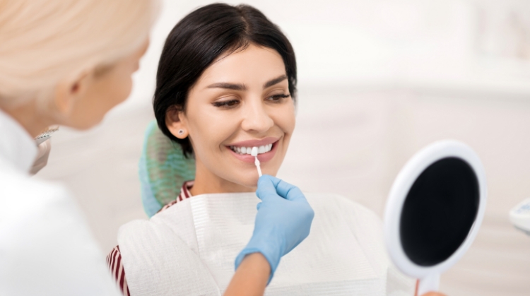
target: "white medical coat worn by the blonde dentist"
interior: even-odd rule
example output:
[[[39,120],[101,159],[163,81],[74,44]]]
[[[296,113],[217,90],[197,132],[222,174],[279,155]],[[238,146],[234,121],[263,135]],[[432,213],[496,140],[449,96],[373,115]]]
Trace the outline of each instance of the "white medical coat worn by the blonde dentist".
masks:
[[[36,155],[0,110],[0,295],[121,295],[66,189],[28,174]]]

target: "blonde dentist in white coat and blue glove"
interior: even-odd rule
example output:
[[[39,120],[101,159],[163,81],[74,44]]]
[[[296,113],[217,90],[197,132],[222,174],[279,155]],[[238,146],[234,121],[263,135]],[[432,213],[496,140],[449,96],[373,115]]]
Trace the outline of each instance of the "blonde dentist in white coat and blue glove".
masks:
[[[120,294],[69,191],[30,177],[33,138],[57,124],[89,129],[129,96],[158,5],[0,0],[0,295]],[[225,295],[263,295],[271,264],[310,232],[303,195],[281,196],[266,176],[258,195],[253,241],[267,245],[245,256]]]

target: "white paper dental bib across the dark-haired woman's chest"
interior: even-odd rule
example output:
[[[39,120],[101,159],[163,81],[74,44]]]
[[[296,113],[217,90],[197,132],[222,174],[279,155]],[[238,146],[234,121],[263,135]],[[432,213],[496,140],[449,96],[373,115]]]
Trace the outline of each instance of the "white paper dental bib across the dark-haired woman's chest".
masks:
[[[309,237],[283,256],[265,295],[413,295],[389,266],[375,213],[333,194],[305,194]],[[203,194],[123,225],[119,249],[131,295],[222,295],[252,236],[254,193]]]

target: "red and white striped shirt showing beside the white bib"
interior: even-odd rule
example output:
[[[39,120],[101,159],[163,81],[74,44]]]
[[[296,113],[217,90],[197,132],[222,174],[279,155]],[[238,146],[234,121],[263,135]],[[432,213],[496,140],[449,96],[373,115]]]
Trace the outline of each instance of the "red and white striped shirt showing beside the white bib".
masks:
[[[190,197],[192,197],[192,194],[189,192],[189,189],[193,187],[193,184],[193,181],[184,182],[184,184],[182,184],[182,188],[180,189],[180,194],[179,196],[177,196],[177,199],[175,199],[175,201],[167,203],[167,205],[163,206],[163,208],[161,208],[158,213],[164,211],[170,206],[173,206],[179,201],[183,201],[184,199],[189,199]],[[127,279],[125,277],[125,271],[122,264],[122,253],[119,252],[119,246],[114,247],[110,254],[107,255],[107,266],[109,266],[110,272],[112,273],[114,280],[116,280],[116,283],[119,285],[119,289],[122,290],[123,295],[131,296],[131,293],[129,292],[129,286],[127,286]]]

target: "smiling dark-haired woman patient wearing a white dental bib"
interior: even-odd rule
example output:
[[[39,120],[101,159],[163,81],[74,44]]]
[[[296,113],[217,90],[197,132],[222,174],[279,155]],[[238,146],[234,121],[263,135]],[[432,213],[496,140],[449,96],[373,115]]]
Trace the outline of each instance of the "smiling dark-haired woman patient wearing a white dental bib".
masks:
[[[132,295],[227,290],[257,216],[250,153],[257,147],[263,173],[276,175],[295,129],[295,91],[293,47],[257,9],[212,4],[177,23],[153,105],[160,130],[194,158],[196,174],[151,221],[120,228],[108,258],[120,283],[126,273]],[[412,295],[413,281],[388,264],[374,213],[341,196],[305,196],[315,212],[310,235],[276,273],[271,264],[267,295]],[[276,210],[267,223],[294,213]]]

